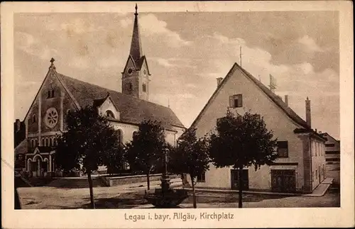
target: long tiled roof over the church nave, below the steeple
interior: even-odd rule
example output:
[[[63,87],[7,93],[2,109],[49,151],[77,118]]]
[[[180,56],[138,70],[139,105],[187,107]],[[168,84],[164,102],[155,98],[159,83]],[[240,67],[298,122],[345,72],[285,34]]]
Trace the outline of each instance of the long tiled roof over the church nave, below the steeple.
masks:
[[[165,128],[172,125],[184,128],[175,113],[168,107],[154,104],[149,101],[137,99],[121,92],[105,89],[104,87],[82,82],[72,77],[57,73],[60,81],[75,97],[80,107],[93,106],[94,101],[100,102],[107,97],[107,94],[119,108],[120,121],[124,123],[139,124],[143,120],[160,121]]]

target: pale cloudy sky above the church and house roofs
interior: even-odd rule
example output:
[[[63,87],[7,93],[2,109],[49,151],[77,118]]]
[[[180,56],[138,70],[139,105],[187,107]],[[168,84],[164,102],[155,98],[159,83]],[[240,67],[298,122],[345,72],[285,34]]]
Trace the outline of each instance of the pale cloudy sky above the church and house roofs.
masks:
[[[126,13],[16,13],[13,18],[15,116],[23,118],[45,78],[57,72],[121,91],[133,7]],[[139,7],[139,6],[138,6]],[[336,11],[142,12],[143,54],[152,74],[150,101],[189,127],[234,62],[288,95],[312,128],[339,139],[339,14]]]

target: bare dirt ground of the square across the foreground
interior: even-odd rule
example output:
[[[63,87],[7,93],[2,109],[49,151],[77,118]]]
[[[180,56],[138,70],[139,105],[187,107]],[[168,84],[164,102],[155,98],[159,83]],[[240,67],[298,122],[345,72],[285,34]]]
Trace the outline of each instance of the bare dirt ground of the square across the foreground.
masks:
[[[70,209],[89,208],[89,189],[58,189],[54,187],[19,188],[22,209]],[[149,208],[143,199],[143,189],[119,189],[118,187],[94,188],[96,208]],[[236,208],[237,194],[216,194],[197,191],[198,208]],[[340,194],[327,193],[324,196],[278,196],[244,194],[244,208],[302,208],[339,207]],[[180,205],[192,207],[192,196]]]

